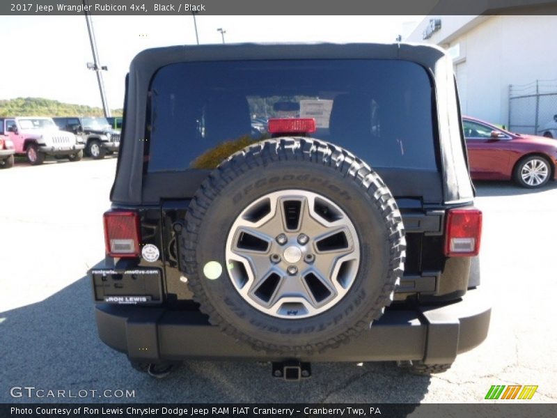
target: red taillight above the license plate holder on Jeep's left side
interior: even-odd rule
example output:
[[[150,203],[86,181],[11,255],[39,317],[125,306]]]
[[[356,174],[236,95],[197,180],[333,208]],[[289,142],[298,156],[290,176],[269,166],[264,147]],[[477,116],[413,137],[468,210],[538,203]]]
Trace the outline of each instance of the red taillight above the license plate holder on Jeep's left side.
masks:
[[[111,257],[139,257],[139,215],[136,212],[104,212],[104,242]]]

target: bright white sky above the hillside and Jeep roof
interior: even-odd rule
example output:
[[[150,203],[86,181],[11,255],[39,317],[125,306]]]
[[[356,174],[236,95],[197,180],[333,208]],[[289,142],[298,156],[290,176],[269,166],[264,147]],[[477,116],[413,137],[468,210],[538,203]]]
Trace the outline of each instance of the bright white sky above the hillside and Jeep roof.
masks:
[[[233,42],[394,42],[423,16],[207,16],[197,15],[201,44]],[[143,49],[194,45],[187,16],[93,16],[104,86],[111,109],[123,107],[124,79]],[[1,16],[0,100],[41,97],[101,107],[84,16]],[[6,52],[8,52],[6,54]]]

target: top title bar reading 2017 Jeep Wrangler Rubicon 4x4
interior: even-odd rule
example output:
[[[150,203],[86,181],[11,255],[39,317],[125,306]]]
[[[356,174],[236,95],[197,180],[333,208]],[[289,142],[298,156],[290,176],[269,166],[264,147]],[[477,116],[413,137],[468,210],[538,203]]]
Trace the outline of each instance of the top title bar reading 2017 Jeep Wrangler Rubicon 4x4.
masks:
[[[0,1],[0,15],[555,15],[556,0],[37,0]]]

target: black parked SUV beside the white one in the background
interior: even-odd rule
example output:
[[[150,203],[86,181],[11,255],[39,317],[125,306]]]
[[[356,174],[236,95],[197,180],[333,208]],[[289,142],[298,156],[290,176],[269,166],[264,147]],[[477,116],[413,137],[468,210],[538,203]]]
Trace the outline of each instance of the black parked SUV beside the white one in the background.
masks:
[[[68,117],[53,118],[61,130],[73,132],[85,145],[85,155],[95,160],[104,158],[107,153],[118,151],[120,132],[113,130],[107,118]]]

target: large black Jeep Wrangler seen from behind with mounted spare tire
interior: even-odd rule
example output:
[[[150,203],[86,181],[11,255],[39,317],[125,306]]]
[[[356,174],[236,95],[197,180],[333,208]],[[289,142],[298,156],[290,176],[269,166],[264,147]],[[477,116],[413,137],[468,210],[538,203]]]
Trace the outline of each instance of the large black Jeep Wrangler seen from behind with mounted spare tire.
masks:
[[[136,56],[126,84],[89,274],[100,338],[133,366],[434,373],[485,339],[482,214],[441,49],[166,47]]]

